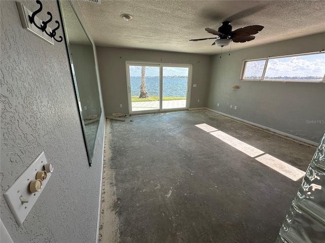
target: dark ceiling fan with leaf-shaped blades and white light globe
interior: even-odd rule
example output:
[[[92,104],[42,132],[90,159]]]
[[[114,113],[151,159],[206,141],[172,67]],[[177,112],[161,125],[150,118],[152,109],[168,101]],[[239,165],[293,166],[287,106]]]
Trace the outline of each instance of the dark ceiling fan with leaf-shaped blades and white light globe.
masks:
[[[205,30],[211,34],[218,35],[218,37],[211,38],[201,38],[201,39],[190,39],[189,41],[203,41],[205,39],[216,39],[212,45],[217,45],[219,47],[228,46],[232,41],[237,43],[249,42],[252,41],[255,36],[253,34],[257,34],[261,31],[264,26],[262,25],[250,25],[243,28],[236,29],[232,31],[233,26],[231,26],[230,21],[223,21],[221,26],[218,28],[218,31],[205,28]]]

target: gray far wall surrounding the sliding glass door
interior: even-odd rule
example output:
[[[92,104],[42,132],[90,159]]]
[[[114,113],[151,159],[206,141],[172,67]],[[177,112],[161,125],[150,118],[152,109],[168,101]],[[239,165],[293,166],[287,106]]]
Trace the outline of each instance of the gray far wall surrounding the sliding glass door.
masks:
[[[205,106],[210,56],[108,47],[96,49],[106,115],[128,113],[125,61],[192,64],[192,84],[197,84],[197,87],[191,88],[189,108]]]

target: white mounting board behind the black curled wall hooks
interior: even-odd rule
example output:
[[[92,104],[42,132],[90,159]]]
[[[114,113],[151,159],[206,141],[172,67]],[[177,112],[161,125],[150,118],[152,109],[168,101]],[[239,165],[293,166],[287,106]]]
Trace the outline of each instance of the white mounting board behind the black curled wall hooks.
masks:
[[[21,20],[22,27],[24,29],[26,29],[27,31],[29,31],[30,33],[35,34],[36,36],[40,37],[41,39],[43,39],[47,43],[54,45],[54,39],[53,38],[51,38],[50,36],[48,36],[42,30],[38,29],[34,24],[31,24],[29,22],[28,15],[31,16],[32,12],[29,11],[29,9],[27,9],[25,6],[23,6],[19,2],[16,2],[16,5],[17,5],[17,8],[18,8],[18,12],[19,12],[19,16],[20,16],[20,20]],[[41,24],[42,23],[42,20],[40,20],[37,16],[35,16],[34,21],[36,22],[36,24],[38,26],[41,26],[42,25]],[[47,26],[46,31],[48,33],[50,33],[50,32],[52,32],[52,29]]]

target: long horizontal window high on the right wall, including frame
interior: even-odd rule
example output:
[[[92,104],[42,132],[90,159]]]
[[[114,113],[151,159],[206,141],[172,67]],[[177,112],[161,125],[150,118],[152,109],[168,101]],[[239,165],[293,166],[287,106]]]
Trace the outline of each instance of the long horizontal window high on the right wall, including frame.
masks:
[[[325,53],[265,58],[244,62],[242,80],[324,82]]]

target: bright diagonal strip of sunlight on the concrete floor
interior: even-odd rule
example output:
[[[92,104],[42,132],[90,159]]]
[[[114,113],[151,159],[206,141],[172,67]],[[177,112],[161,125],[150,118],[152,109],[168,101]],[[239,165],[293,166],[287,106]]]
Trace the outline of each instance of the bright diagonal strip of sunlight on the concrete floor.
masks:
[[[265,153],[262,150],[259,150],[247,143],[244,143],[240,141],[237,138],[234,138],[233,136],[230,136],[224,132],[221,132],[220,130],[213,128],[207,124],[198,124],[195,125],[196,127],[210,133],[214,137],[222,140],[223,142],[229,144],[230,146],[238,149],[239,151],[247,154],[250,157],[255,157],[257,161],[262,163],[263,165],[266,165],[270,167],[271,169],[279,172],[280,174],[288,177],[291,180],[298,181],[300,180],[304,175],[305,172],[302,170],[297,169],[294,166],[291,166],[281,159],[278,159],[276,157],[273,157],[270,154]],[[259,156],[261,155],[261,156]],[[258,156],[258,157],[256,157]]]

